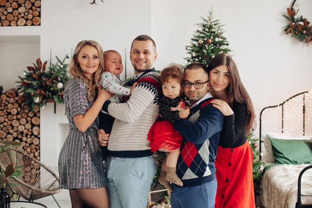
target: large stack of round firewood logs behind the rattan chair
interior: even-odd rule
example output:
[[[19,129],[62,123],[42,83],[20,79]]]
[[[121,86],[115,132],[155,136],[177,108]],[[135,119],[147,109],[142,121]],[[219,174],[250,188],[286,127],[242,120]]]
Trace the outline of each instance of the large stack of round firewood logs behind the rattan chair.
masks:
[[[40,160],[39,107],[24,110],[15,88],[0,94],[0,140],[20,142],[25,153]]]

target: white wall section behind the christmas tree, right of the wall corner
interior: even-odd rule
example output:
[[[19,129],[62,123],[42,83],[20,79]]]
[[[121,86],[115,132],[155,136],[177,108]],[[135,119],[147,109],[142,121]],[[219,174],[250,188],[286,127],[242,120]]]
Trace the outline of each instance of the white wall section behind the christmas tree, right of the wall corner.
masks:
[[[288,22],[283,14],[291,3],[285,0],[153,1],[156,66],[163,68],[170,62],[186,64],[182,57],[187,56],[185,46],[198,28],[195,24],[202,22],[200,17],[207,17],[212,8],[214,18],[224,24],[224,35],[233,50],[231,55],[259,116],[267,105],[312,89],[312,44],[306,46],[284,32]],[[312,21],[312,1],[297,0],[295,7]],[[258,129],[255,133],[259,135]]]

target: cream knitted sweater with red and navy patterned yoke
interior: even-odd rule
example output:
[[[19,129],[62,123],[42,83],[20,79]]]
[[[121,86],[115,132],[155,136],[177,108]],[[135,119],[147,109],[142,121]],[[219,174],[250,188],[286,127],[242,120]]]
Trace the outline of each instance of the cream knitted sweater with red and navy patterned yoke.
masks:
[[[151,156],[148,133],[158,118],[159,75],[155,69],[144,72],[137,80],[125,83],[138,85],[126,103],[105,102],[102,110],[115,118],[108,141],[109,155],[121,158]]]

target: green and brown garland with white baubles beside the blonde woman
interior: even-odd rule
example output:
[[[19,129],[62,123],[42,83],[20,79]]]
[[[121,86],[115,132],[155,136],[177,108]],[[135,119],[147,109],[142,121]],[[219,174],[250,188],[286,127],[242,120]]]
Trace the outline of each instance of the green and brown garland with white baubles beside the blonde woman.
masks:
[[[20,77],[17,86],[20,90],[19,100],[22,101],[26,108],[32,110],[36,105],[43,107],[47,102],[63,103],[64,86],[69,80],[66,68],[67,64],[65,60],[69,58],[67,55],[63,60],[60,60],[57,56],[56,64],[51,63],[48,70],[45,71],[46,63],[43,64],[38,58],[34,67],[27,66],[28,71],[24,71],[25,77]]]

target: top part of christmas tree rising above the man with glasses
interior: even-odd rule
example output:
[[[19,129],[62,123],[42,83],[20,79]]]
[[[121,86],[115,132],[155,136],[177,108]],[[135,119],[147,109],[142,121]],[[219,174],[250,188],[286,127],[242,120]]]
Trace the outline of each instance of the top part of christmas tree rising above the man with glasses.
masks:
[[[208,65],[211,58],[217,54],[228,53],[228,41],[223,36],[223,25],[219,20],[213,20],[212,10],[209,11],[208,18],[201,17],[203,22],[197,24],[196,30],[189,46],[186,46],[190,57],[184,59],[188,63],[199,62]]]

